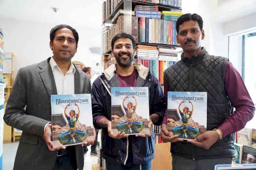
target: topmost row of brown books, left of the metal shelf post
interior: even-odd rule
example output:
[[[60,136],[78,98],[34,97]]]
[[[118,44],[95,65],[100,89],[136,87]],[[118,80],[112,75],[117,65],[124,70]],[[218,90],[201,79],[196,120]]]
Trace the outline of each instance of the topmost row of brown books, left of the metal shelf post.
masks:
[[[102,22],[105,22],[122,0],[106,0],[102,4]]]

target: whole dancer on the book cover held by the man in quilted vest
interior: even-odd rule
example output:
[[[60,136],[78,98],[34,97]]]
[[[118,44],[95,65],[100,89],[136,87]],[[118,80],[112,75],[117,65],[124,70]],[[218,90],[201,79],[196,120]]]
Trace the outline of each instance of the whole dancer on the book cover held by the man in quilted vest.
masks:
[[[193,115],[194,111],[194,106],[192,102],[188,102],[191,104],[192,110],[189,111],[188,107],[183,108],[183,112],[181,111],[181,105],[185,103],[185,101],[182,101],[179,105],[179,112],[181,114],[181,120],[182,120],[182,125],[174,127],[172,129],[174,135],[179,135],[180,138],[185,138],[185,139],[194,139],[197,136],[200,135],[200,131],[194,127],[189,126],[189,119]]]

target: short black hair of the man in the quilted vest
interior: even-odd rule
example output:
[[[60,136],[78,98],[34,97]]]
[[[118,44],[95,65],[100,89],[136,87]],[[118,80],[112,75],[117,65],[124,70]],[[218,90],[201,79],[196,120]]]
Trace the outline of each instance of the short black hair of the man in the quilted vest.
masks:
[[[183,14],[182,16],[180,16],[180,18],[177,20],[176,22],[176,31],[179,34],[179,27],[180,25],[183,24],[183,22],[185,21],[189,21],[189,20],[194,20],[198,22],[199,28],[202,31],[203,30],[203,19],[200,15],[198,14]]]

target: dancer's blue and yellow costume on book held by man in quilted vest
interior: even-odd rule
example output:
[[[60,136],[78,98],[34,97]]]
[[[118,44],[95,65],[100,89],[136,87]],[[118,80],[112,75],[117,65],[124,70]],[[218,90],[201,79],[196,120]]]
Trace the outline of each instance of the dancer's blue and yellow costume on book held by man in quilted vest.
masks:
[[[174,135],[179,135],[179,138],[184,138],[184,139],[195,139],[197,136],[199,136],[200,131],[188,125],[190,114],[184,115],[183,113],[181,113],[181,117],[182,117],[182,125],[174,127],[172,129],[172,133]]]

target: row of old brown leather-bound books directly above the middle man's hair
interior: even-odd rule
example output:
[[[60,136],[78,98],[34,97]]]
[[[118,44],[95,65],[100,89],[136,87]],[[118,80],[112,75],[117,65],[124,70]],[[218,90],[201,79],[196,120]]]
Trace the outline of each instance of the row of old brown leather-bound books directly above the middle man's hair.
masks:
[[[138,18],[136,16],[132,16],[132,36],[136,42],[138,42]],[[106,26],[103,29],[103,53],[111,50],[111,40],[112,38],[118,34],[124,32],[124,16],[120,15],[116,23],[111,27]]]

